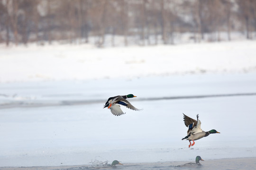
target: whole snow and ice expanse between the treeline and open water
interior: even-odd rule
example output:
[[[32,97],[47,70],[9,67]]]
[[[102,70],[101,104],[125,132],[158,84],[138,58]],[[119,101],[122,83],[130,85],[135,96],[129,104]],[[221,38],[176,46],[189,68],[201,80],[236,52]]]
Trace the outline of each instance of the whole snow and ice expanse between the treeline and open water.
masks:
[[[83,48],[1,49],[0,167],[256,157],[256,42]],[[143,110],[102,109],[128,93]],[[220,134],[189,149],[182,113]]]

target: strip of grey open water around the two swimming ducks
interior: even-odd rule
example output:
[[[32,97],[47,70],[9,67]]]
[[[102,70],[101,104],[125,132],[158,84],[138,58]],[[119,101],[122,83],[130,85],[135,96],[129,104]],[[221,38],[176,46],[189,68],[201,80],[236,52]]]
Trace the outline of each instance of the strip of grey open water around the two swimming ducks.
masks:
[[[117,165],[114,168],[100,168],[100,170],[198,170],[198,168],[175,167],[177,165],[188,163],[188,161],[159,161],[143,163],[125,163]],[[201,163],[200,170],[255,170],[256,158],[235,158],[205,160]],[[1,170],[91,170],[90,165],[61,165],[46,167],[1,167]]]

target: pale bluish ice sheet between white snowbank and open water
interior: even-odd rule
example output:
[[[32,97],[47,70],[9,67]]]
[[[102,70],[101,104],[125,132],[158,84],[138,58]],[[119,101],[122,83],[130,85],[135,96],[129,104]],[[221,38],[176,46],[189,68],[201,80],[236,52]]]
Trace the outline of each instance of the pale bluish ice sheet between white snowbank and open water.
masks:
[[[84,165],[97,156],[122,163],[256,157],[255,73],[7,83],[0,93],[6,95],[0,96],[1,167]],[[138,96],[129,101],[143,110],[116,117],[102,109],[108,97],[128,93]],[[181,140],[187,131],[182,113],[199,114],[203,130],[220,134],[188,148]]]

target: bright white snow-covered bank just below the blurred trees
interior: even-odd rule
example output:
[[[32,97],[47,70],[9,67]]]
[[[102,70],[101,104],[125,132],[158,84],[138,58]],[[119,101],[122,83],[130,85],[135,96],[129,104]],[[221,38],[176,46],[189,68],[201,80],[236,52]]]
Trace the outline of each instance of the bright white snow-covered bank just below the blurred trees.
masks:
[[[97,49],[0,47],[0,82],[256,71],[256,41]]]

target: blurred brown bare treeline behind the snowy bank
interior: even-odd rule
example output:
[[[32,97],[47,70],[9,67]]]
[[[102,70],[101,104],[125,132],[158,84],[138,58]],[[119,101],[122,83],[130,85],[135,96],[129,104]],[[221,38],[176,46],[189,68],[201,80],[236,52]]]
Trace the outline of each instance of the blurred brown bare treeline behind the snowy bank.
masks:
[[[193,42],[254,39],[256,0],[0,0],[0,43],[94,43],[106,35],[134,43],[172,44],[176,34]],[[206,36],[207,35],[207,36]]]

